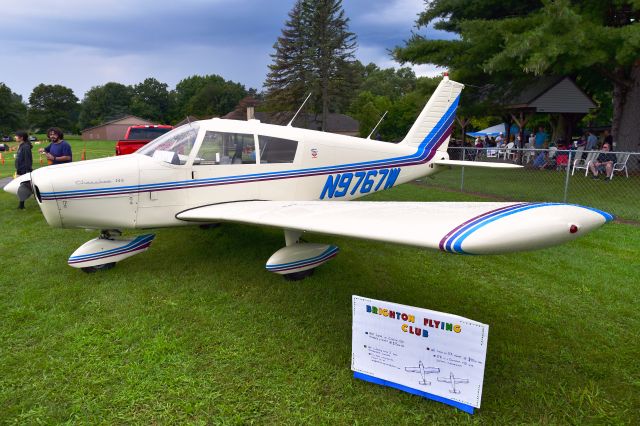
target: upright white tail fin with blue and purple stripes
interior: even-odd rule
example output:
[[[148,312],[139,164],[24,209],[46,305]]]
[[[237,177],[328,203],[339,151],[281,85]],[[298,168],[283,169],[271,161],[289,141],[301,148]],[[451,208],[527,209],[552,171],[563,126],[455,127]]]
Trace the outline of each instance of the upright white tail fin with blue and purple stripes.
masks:
[[[400,143],[432,152],[446,151],[463,88],[464,84],[449,80],[445,75]]]

